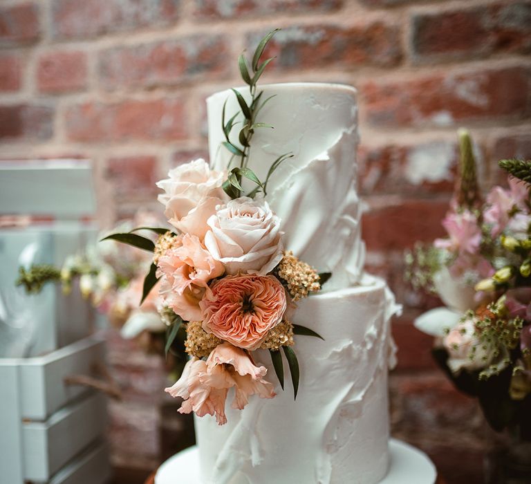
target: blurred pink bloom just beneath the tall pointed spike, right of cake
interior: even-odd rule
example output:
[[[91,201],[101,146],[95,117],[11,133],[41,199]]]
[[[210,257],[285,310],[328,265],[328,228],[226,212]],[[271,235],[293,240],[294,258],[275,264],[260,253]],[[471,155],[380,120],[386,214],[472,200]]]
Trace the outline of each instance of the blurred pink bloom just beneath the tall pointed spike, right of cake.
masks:
[[[448,239],[436,239],[434,245],[451,252],[476,254],[481,243],[481,229],[477,218],[472,212],[447,214],[443,227],[448,232]]]

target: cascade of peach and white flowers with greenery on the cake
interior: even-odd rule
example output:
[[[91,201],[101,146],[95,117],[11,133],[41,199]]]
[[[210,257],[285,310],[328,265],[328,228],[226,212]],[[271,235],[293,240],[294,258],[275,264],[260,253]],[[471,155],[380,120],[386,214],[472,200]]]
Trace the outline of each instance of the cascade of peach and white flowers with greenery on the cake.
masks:
[[[267,369],[258,361],[257,350],[269,351],[282,389],[284,353],[297,397],[294,335],[320,336],[292,324],[287,310],[293,301],[320,290],[330,276],[318,274],[285,250],[281,220],[265,199],[271,174],[290,153],[272,160],[263,181],[248,167],[254,131],[272,129],[258,121],[268,99],[262,99],[257,81],[272,61],[261,62],[261,55],[276,31],[262,39],[252,62],[239,57],[250,102],[233,89],[241,112],[226,120],[226,102],[223,106],[223,147],[232,153],[227,171],[210,169],[203,159],[171,169],[157,186],[163,191],[158,201],[174,229],[151,229],[158,234],[155,242],[135,231],[106,238],[153,252],[142,301],[157,286],[168,325],[166,351],[184,328],[189,355],[182,375],[166,391],[183,398],[181,413],[209,414],[219,425],[227,422],[225,401],[232,388],[235,409],[243,409],[252,395],[274,398],[274,385],[266,379]],[[236,143],[230,136],[240,113],[243,127]],[[231,168],[237,159],[239,166]],[[247,193],[243,178],[254,184]]]

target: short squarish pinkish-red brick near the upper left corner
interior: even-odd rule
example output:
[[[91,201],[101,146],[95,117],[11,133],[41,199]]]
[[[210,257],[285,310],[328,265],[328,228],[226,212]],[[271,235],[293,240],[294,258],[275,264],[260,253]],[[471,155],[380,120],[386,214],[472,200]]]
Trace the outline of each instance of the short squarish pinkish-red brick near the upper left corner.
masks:
[[[84,89],[86,75],[86,54],[80,51],[46,53],[37,64],[37,86],[44,93]]]

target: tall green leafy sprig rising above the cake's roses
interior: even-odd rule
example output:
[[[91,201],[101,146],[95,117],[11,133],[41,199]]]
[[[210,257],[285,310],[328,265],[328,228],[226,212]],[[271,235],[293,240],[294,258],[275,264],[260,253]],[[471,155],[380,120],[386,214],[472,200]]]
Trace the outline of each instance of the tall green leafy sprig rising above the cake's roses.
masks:
[[[234,158],[240,158],[240,166],[232,168],[229,171],[227,180],[225,180],[225,183],[223,183],[223,190],[225,190],[225,193],[227,193],[227,195],[233,199],[241,196],[243,192],[243,187],[241,186],[242,178],[247,178],[257,185],[251,192],[247,194],[247,196],[254,198],[254,196],[256,196],[259,192],[263,192],[264,195],[267,194],[267,185],[270,176],[279,167],[281,162],[287,160],[288,158],[292,158],[290,153],[286,153],[274,160],[264,182],[261,182],[254,171],[247,166],[250,156],[251,140],[252,136],[254,135],[254,131],[259,128],[274,129],[274,127],[272,127],[270,124],[257,121],[257,116],[263,109],[263,106],[265,106],[265,104],[267,104],[274,97],[274,95],[271,95],[262,100],[263,91],[257,92],[257,83],[263,74],[263,71],[265,71],[265,68],[274,60],[274,57],[270,57],[269,59],[265,59],[263,62],[260,62],[263,51],[265,50],[265,46],[267,46],[273,35],[279,30],[279,28],[276,28],[269,32],[268,35],[265,35],[263,39],[261,39],[256,50],[254,50],[254,55],[252,56],[251,62],[248,62],[248,59],[245,58],[243,53],[241,53],[238,58],[238,66],[241,78],[245,84],[248,84],[249,86],[251,97],[250,103],[248,104],[245,102],[243,95],[241,95],[239,91],[232,89],[232,92],[238,101],[240,111],[232,115],[226,122],[225,113],[227,108],[227,100],[225,100],[225,103],[223,104],[223,110],[221,111],[221,127],[223,129],[223,134],[225,135],[225,141],[222,142],[222,145],[228,151],[230,151],[230,153],[232,153],[227,165],[227,169],[229,169],[232,165]],[[240,113],[243,115],[243,126],[238,133],[238,141],[241,147],[237,146],[230,139],[230,132],[232,131],[232,128],[238,124],[238,122],[235,122],[235,120]]]

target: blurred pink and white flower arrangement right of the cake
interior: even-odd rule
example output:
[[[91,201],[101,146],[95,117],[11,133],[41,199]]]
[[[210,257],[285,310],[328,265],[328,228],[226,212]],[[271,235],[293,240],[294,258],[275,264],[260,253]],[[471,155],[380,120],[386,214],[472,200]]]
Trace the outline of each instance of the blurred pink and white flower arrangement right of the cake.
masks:
[[[456,387],[478,398],[496,431],[531,440],[531,165],[503,160],[519,176],[485,201],[472,143],[460,131],[460,179],[443,227],[447,236],[407,254],[414,286],[435,292],[444,308],[416,327],[436,337],[434,357]],[[527,167],[527,170],[526,170]]]

